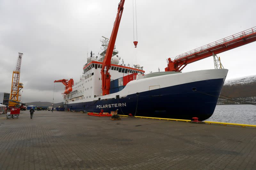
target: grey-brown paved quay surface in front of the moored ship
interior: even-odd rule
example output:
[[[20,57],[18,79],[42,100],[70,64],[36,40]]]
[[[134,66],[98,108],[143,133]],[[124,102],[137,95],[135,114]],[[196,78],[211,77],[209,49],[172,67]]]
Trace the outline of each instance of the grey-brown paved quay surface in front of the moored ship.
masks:
[[[22,112],[0,119],[1,170],[256,167],[256,128]]]

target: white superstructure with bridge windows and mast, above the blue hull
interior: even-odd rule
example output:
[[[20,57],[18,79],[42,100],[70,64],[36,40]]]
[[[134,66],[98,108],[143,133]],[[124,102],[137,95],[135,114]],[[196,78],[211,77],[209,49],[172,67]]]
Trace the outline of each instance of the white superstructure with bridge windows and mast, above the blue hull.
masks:
[[[87,63],[84,64],[83,68],[83,75],[80,76],[80,80],[78,82],[74,83],[72,92],[64,96],[64,104],[92,101],[94,100],[93,98],[102,96],[102,80],[100,71],[102,68],[102,61],[108,47],[108,39],[105,37],[103,38],[104,40],[101,40],[101,49],[103,50],[100,53],[101,57],[94,57],[92,52],[91,56],[87,57]],[[138,75],[145,73],[145,71],[143,71],[143,67],[140,67],[139,64],[131,67],[130,64],[124,64],[123,60],[122,63],[119,64],[119,60],[121,58],[118,57],[118,51],[115,49],[111,59],[111,68],[109,69],[111,80],[122,78],[132,73],[138,73]]]

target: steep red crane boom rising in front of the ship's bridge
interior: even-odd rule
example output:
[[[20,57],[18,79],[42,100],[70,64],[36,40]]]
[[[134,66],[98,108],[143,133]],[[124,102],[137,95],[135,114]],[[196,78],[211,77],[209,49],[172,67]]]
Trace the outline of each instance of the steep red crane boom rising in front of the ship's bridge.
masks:
[[[119,28],[119,24],[121,21],[121,17],[124,10],[124,0],[120,0],[120,3],[118,4],[117,14],[116,14],[116,20],[113,26],[113,30],[109,39],[107,52],[105,55],[105,58],[102,63],[102,69],[101,69],[101,79],[102,79],[102,95],[109,94],[109,88],[110,88],[110,74],[108,72],[111,64],[111,57],[113,54],[113,50],[116,43],[116,36]]]

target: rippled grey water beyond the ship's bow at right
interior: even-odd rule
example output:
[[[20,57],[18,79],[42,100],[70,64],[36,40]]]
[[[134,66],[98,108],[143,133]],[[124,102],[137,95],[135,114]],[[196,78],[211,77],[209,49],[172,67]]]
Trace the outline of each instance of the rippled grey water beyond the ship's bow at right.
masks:
[[[206,121],[256,125],[256,106],[217,105],[213,115]]]

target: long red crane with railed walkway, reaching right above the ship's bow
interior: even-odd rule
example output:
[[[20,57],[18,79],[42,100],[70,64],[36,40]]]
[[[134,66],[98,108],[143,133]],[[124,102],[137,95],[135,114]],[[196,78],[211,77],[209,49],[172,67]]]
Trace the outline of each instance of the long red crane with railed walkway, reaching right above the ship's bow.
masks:
[[[165,71],[181,71],[187,64],[256,41],[256,26],[221,40],[167,59]]]

